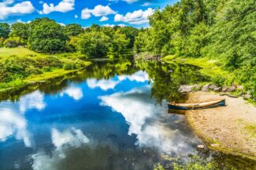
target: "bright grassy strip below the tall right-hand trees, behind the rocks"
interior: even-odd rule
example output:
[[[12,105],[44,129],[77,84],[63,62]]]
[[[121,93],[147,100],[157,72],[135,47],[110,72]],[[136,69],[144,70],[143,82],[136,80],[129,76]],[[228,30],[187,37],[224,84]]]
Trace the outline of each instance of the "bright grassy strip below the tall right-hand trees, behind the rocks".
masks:
[[[204,58],[180,58],[176,56],[165,56],[163,61],[166,63],[182,63],[191,64],[200,67],[200,73],[210,77],[210,82],[215,85],[220,86],[232,86],[232,85],[242,85],[243,89],[236,89],[232,92],[234,95],[247,94],[253,97],[249,99],[251,103],[255,103],[255,83],[256,83],[256,73],[254,71],[253,75],[249,73],[246,75],[241,75],[243,71],[228,71],[225,69],[224,65],[220,60],[211,60],[206,57]],[[249,77],[249,78],[248,78]]]

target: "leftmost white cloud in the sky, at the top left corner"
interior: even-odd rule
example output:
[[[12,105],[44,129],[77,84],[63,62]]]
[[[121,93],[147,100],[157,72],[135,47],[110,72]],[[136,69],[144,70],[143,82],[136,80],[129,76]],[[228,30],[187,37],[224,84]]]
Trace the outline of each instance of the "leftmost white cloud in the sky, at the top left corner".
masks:
[[[4,20],[11,15],[23,15],[35,11],[32,2],[19,2],[14,5],[13,2],[13,0],[4,0],[3,2],[0,2],[0,20]]]

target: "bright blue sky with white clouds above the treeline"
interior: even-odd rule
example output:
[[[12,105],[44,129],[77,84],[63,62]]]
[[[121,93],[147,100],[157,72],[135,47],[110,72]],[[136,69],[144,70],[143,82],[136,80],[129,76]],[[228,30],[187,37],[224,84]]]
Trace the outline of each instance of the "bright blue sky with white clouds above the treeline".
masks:
[[[147,16],[178,0],[0,0],[0,22],[49,17],[60,24],[147,27]]]

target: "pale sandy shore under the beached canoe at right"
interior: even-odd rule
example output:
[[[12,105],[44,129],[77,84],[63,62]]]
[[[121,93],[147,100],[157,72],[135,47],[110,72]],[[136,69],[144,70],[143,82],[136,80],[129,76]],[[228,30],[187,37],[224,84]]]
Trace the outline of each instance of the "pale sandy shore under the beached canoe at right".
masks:
[[[242,98],[210,92],[192,92],[187,103],[223,98],[226,107],[187,111],[188,123],[211,149],[256,161],[256,107]]]

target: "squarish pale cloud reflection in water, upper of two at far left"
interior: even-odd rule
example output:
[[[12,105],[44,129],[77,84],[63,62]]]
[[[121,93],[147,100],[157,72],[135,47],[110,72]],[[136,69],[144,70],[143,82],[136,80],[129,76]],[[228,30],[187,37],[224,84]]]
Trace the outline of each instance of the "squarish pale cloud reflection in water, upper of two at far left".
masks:
[[[39,90],[20,97],[20,112],[24,113],[28,109],[43,110],[46,103],[43,102],[43,94]]]

